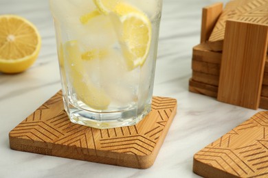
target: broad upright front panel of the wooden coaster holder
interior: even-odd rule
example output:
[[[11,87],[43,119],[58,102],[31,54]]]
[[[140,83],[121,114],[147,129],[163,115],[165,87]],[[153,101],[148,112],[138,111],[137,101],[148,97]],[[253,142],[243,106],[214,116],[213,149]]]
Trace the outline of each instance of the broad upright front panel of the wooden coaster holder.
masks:
[[[217,99],[258,109],[267,53],[268,26],[227,21]]]

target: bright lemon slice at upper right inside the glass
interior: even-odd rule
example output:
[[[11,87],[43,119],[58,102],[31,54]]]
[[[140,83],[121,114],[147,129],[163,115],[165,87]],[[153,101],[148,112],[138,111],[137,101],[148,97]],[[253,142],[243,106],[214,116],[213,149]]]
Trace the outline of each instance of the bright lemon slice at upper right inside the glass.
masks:
[[[118,32],[122,53],[129,69],[142,66],[148,57],[152,38],[152,26],[146,14],[118,0],[94,2],[103,14],[111,12],[118,16],[120,23],[114,23],[115,30]]]

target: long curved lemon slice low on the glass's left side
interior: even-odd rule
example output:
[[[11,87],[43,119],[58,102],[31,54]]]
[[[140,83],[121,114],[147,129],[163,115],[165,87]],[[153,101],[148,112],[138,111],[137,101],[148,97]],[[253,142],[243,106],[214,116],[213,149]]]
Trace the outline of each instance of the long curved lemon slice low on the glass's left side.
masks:
[[[81,52],[77,41],[65,43],[65,58],[69,68],[74,90],[78,99],[96,110],[106,110],[111,100],[104,90],[96,88],[91,84],[87,72],[82,65]]]

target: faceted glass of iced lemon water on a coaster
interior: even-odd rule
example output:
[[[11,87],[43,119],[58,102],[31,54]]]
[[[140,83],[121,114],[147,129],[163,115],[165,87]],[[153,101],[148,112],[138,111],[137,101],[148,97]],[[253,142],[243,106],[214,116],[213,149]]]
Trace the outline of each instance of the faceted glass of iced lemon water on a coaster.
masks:
[[[161,0],[50,0],[73,123],[135,125],[151,110]]]

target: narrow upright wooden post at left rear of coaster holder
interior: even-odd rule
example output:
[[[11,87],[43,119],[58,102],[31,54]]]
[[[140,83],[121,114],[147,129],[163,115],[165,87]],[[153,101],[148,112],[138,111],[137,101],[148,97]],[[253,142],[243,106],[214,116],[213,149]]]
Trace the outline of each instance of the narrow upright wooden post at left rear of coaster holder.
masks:
[[[208,5],[202,10],[202,24],[201,24],[201,42],[205,42],[210,38],[210,34],[218,21],[219,16],[223,10],[223,3],[214,3]]]

